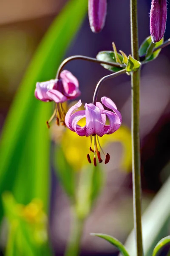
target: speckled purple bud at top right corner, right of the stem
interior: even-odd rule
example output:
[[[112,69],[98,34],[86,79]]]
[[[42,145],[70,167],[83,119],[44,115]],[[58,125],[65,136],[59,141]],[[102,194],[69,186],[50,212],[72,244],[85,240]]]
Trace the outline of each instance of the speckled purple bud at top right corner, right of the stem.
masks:
[[[152,0],[150,9],[150,35],[153,43],[159,42],[165,32],[167,0]]]

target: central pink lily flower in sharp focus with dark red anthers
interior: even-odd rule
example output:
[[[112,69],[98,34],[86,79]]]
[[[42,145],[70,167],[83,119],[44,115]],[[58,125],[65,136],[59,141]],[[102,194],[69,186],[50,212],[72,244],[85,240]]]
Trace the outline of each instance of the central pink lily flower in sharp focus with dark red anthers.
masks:
[[[113,132],[117,131],[122,123],[121,113],[117,110],[114,102],[107,97],[102,97],[101,101],[103,105],[111,109],[111,111],[105,110],[100,102],[96,102],[96,105],[86,103],[85,110],[77,111],[74,113],[74,111],[76,111],[82,105],[81,100],[79,100],[79,102],[71,107],[65,115],[65,125],[71,131],[76,132],[79,136],[91,136],[91,145],[94,137],[94,150],[90,145],[90,151],[94,152],[94,166],[96,166],[96,154],[99,163],[102,163],[100,152],[97,147],[97,142],[103,154],[105,154],[99,143],[99,137],[102,137],[104,134],[112,134]],[[86,119],[86,124],[84,127],[81,127],[77,123],[84,117]],[[106,125],[106,117],[109,119],[109,125]],[[87,158],[89,163],[91,163],[90,154],[87,155]],[[110,156],[107,153],[105,154],[105,163],[108,163],[109,160]]]

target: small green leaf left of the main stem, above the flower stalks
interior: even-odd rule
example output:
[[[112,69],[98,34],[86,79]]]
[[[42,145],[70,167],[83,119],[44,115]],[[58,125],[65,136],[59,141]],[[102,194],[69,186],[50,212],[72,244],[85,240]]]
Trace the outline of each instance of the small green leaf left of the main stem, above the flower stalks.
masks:
[[[123,57],[121,54],[117,54],[119,56],[120,61],[123,61]],[[113,62],[116,63],[116,57],[114,52],[112,51],[103,51],[103,52],[99,52],[96,56],[96,58],[100,61],[109,61],[109,62]],[[110,70],[112,72],[117,72],[119,70],[122,70],[123,67],[112,67],[106,64],[101,64],[104,68],[106,68],[107,70]]]

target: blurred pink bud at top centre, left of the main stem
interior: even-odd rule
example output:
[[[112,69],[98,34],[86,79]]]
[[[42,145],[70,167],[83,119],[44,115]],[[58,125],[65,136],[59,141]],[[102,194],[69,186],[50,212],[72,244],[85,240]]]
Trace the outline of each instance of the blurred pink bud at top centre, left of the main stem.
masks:
[[[98,33],[105,25],[107,0],[88,0],[88,17],[92,32]]]

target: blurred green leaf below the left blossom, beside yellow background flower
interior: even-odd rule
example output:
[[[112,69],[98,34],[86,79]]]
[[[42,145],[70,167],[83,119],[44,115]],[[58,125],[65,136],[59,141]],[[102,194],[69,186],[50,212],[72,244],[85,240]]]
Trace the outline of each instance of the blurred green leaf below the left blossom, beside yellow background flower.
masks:
[[[61,147],[57,147],[55,157],[55,172],[69,197],[75,197],[75,171],[68,163]]]

